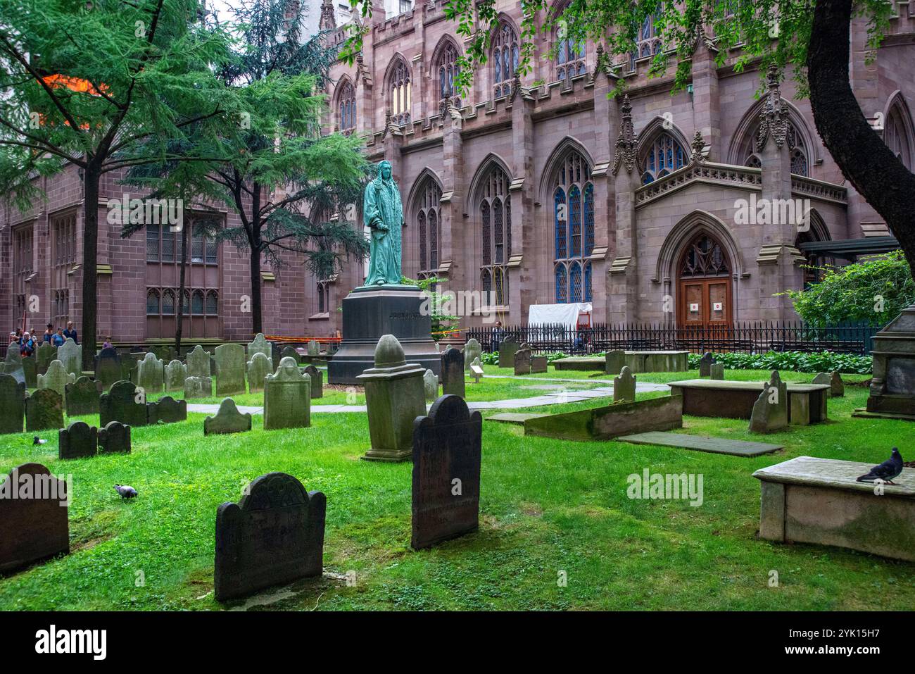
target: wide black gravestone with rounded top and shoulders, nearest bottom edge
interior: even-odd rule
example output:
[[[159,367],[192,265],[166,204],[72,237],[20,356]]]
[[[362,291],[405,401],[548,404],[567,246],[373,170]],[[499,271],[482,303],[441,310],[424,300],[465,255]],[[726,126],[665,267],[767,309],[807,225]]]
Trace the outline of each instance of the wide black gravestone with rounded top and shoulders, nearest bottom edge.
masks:
[[[326,514],[325,496],[307,492],[286,473],[261,475],[237,504],[219,506],[213,569],[216,601],[320,576]]]

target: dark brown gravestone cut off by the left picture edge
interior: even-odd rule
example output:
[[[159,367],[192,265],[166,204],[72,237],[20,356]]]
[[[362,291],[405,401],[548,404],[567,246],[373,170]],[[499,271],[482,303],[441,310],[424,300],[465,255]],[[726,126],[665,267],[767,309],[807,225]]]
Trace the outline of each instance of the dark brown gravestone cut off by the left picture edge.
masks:
[[[29,498],[9,494],[25,492],[27,485]],[[70,552],[69,498],[67,483],[40,463],[23,463],[9,473],[0,484],[0,573]]]

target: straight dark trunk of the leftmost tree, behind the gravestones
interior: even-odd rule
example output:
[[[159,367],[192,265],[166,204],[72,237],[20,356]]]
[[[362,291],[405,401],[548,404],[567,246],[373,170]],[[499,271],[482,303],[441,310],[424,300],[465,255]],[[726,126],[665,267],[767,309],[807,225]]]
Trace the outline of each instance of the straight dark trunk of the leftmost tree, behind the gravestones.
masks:
[[[96,258],[99,247],[99,182],[102,171],[91,160],[82,176],[82,369],[95,369],[98,314],[98,270]]]

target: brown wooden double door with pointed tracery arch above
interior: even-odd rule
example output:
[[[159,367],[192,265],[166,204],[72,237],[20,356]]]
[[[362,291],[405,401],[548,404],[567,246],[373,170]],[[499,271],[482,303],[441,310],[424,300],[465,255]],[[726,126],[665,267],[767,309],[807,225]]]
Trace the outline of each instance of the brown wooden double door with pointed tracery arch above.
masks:
[[[731,264],[721,245],[699,234],[686,246],[677,266],[677,323],[685,327],[729,326]]]

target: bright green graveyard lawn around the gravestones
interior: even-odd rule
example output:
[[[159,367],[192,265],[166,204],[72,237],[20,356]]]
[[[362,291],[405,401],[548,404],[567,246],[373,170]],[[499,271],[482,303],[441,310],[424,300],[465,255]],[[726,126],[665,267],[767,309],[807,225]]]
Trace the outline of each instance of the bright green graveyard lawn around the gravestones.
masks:
[[[812,376],[784,373],[786,381]],[[410,549],[412,466],[359,460],[369,447],[364,414],[317,414],[311,428],[275,431],[255,415],[249,433],[208,438],[203,416],[190,414],[134,429],[129,455],[67,462],[57,459],[56,431],[38,433],[49,440],[41,446],[33,434],[4,435],[0,470],[42,462],[72,473],[74,500],[70,555],[0,578],[0,608],[219,610],[217,506],[238,501],[258,475],[280,471],[327,495],[325,575],[225,608],[909,610],[915,564],[756,538],[755,470],[800,455],[877,463],[892,445],[913,458],[907,422],[850,419],[866,397],[865,387],[846,386],[844,398],[829,401],[829,423],[765,438],[750,436],[746,421],[684,419],[683,432],[786,445],[752,459],[525,438],[518,426],[484,421],[479,532],[422,551]],[[703,474],[702,506],[628,498],[627,477],[644,469]],[[139,496],[124,501],[113,484],[131,484]],[[770,571],[778,587],[770,587]]]

